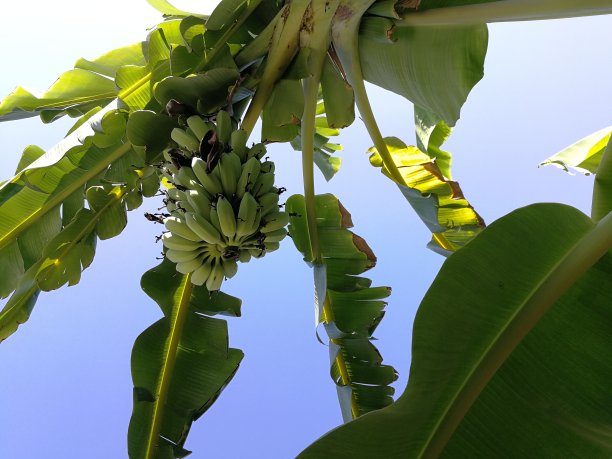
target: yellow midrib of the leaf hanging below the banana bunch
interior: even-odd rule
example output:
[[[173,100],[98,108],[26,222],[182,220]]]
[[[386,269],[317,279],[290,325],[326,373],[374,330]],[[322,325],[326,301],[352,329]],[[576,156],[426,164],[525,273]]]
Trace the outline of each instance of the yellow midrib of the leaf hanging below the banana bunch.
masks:
[[[176,311],[173,311],[173,316],[169,318],[171,321],[170,332],[168,335],[167,345],[165,347],[164,361],[160,371],[161,378],[155,393],[155,408],[153,409],[151,430],[149,431],[149,436],[147,438],[145,459],[153,459],[156,457],[157,453],[156,447],[159,441],[159,432],[161,429],[164,407],[168,398],[170,383],[172,381],[174,364],[176,363],[176,354],[183,334],[183,327],[187,319],[187,313],[189,312],[189,302],[191,300],[191,291],[193,290],[191,274],[184,277],[180,288],[182,289],[180,293],[181,300]]]

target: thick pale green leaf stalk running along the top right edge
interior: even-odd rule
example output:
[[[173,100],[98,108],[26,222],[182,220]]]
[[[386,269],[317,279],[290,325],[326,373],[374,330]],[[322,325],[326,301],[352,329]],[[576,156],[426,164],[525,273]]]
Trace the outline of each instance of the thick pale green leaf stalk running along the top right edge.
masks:
[[[612,13],[609,0],[503,0],[405,13],[399,26],[440,26],[533,21]]]

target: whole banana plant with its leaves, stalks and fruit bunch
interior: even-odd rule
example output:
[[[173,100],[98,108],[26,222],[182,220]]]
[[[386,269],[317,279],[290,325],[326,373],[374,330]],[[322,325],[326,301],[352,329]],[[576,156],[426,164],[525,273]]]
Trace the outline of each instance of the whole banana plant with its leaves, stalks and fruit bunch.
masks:
[[[189,454],[192,423],[248,358],[213,317],[240,316],[221,288],[287,236],[312,269],[316,335],[345,422],[302,457],[610,454],[610,129],[543,162],[596,175],[591,216],[534,204],[486,227],[442,149],[483,77],[488,22],[610,14],[609,1],[222,0],[210,15],[149,3],[164,18],[145,40],[0,103],[1,121],[77,118],[50,150],[28,147],[0,184],[0,340],[42,292],[87,275],[97,241],[158,196],[146,215],[164,228],[162,261],[141,286],[163,317],[132,351],[130,458]],[[416,145],[383,136],[366,81],[413,103]],[[330,138],[356,113],[370,163],[446,257],[395,401],[398,372],[373,344],[391,287],[363,276],[376,255],[340,199],[315,189],[315,166],[327,180],[342,173]],[[271,143],[301,152],[303,194],[281,198]]]

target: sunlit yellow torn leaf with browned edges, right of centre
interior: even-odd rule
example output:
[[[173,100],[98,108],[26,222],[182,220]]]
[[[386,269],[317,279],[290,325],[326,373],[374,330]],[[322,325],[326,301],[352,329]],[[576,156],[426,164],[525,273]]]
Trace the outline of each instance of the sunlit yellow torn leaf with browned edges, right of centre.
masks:
[[[386,137],[385,143],[403,177],[403,183],[397,184],[400,191],[433,234],[428,247],[449,255],[470,242],[485,225],[459,184],[447,180],[435,160],[417,147],[396,137]],[[376,148],[369,152],[370,163],[392,179]]]

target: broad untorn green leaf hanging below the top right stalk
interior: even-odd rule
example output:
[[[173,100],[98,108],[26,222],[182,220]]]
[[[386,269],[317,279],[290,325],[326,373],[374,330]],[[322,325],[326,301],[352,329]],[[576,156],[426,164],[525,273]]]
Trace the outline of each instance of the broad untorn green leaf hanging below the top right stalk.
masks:
[[[362,28],[359,52],[364,78],[454,126],[468,93],[483,76],[486,25]],[[390,39],[389,39],[390,38]]]

